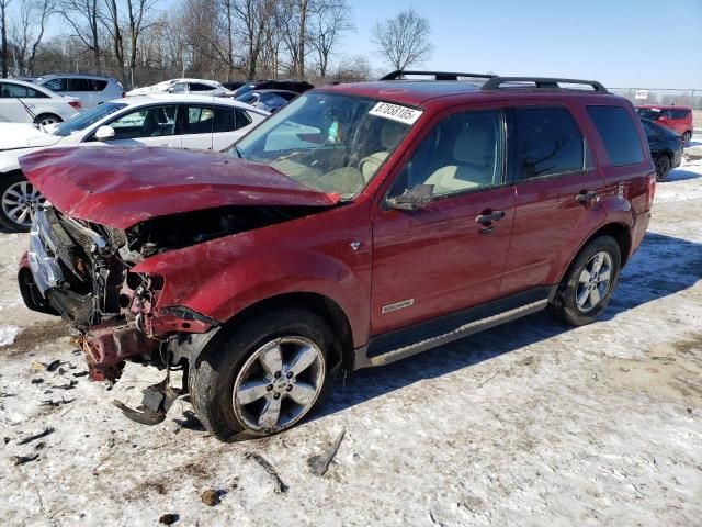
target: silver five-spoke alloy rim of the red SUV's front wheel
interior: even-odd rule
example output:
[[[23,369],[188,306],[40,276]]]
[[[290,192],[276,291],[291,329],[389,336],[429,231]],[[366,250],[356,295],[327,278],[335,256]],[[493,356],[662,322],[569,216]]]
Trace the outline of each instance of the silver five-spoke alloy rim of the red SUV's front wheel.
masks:
[[[234,412],[251,430],[283,430],[309,412],[324,380],[325,356],[314,341],[299,336],[276,338],[258,348],[239,371]]]

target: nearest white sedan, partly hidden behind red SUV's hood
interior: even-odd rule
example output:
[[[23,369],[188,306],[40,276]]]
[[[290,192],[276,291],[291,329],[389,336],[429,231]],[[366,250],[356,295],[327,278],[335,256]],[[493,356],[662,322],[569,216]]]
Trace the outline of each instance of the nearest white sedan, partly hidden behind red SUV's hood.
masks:
[[[231,99],[161,94],[105,102],[49,126],[0,123],[0,225],[27,231],[31,211],[44,201],[20,170],[23,155],[48,147],[102,145],[219,152],[268,115]]]

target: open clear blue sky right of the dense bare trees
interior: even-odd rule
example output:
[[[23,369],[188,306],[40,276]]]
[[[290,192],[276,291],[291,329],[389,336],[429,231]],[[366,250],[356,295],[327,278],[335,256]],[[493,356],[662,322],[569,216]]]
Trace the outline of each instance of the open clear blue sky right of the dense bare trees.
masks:
[[[596,79],[607,87],[702,90],[702,0],[350,0],[343,53],[387,69],[370,42],[377,20],[428,18],[426,69]]]

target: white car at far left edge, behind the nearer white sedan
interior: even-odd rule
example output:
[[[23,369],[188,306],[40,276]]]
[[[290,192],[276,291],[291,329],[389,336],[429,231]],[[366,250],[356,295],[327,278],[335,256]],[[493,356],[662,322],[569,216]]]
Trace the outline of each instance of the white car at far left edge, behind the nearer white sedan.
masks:
[[[23,80],[0,79],[0,123],[60,123],[81,110],[80,100]]]

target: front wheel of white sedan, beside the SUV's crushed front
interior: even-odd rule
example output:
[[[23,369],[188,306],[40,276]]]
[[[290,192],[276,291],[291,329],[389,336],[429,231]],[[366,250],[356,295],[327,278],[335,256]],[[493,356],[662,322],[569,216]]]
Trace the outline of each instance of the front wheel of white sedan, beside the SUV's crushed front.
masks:
[[[0,175],[0,225],[13,233],[26,233],[32,225],[32,211],[45,198],[21,172]]]

